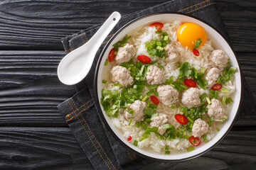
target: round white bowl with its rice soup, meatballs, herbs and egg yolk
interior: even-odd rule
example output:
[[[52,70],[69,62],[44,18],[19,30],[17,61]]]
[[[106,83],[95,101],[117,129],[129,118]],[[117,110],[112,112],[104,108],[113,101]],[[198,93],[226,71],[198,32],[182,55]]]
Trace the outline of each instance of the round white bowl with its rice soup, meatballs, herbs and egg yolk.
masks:
[[[166,161],[198,157],[230,130],[241,73],[229,43],[192,16],[154,13],[121,28],[95,72],[97,107],[119,142]]]

